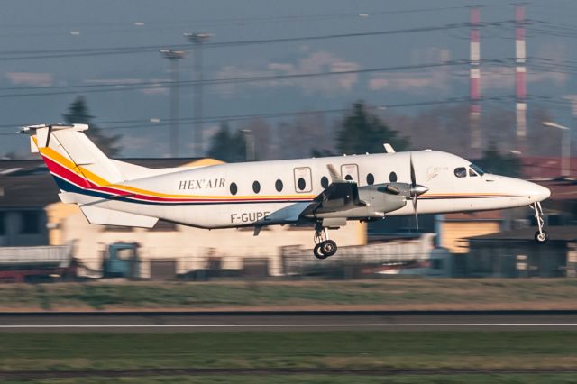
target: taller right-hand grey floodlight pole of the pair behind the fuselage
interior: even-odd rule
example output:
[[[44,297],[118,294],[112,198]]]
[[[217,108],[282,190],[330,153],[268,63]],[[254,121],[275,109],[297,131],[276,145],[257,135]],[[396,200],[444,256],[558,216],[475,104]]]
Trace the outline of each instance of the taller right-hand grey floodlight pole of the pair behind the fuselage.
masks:
[[[202,122],[202,101],[203,101],[203,62],[202,62],[202,45],[210,38],[208,33],[185,33],[188,41],[192,42],[193,50],[193,145],[194,155],[202,157],[202,138],[203,138],[203,122]]]

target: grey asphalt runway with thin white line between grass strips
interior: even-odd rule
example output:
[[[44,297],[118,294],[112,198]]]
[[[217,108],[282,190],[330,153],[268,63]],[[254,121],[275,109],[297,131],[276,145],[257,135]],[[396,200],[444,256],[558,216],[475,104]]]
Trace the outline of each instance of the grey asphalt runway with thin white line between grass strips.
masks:
[[[3,313],[0,332],[577,331],[577,311]]]

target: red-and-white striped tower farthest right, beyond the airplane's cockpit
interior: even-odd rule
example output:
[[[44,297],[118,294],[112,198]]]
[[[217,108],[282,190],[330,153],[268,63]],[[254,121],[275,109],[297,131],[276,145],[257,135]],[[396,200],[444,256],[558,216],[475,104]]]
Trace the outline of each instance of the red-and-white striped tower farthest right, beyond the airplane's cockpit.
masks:
[[[515,5],[515,61],[517,64],[515,74],[516,88],[516,116],[517,116],[517,148],[524,153],[527,151],[527,86],[525,67],[525,5]]]

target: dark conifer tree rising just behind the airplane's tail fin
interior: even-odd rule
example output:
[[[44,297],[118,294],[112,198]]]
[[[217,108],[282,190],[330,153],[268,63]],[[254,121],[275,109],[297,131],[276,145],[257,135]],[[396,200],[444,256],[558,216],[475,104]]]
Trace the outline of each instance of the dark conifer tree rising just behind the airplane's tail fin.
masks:
[[[87,136],[101,151],[105,152],[106,156],[113,157],[122,150],[122,147],[120,147],[118,143],[122,138],[121,134],[109,136],[105,134],[102,129],[98,128],[95,123],[92,123],[94,116],[90,114],[84,96],[78,96],[76,100],[69,105],[67,113],[62,114],[62,117],[67,124],[88,124],[90,129],[86,131]]]

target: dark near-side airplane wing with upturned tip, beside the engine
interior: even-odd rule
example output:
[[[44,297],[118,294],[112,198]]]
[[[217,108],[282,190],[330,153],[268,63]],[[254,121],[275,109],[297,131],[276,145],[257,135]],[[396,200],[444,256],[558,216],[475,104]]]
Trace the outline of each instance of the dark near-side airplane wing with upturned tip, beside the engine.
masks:
[[[307,216],[346,211],[357,206],[367,205],[359,198],[357,183],[341,178],[331,164],[327,168],[331,173],[333,182],[315,197],[313,203],[307,206],[300,215]]]

